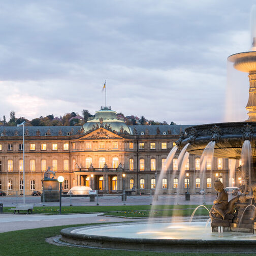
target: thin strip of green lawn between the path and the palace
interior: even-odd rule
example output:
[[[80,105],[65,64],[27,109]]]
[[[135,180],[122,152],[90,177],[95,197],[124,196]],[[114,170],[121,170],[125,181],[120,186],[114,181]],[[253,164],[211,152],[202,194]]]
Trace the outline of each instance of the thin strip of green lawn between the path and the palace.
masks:
[[[198,205],[155,205],[155,210],[186,209],[196,208]],[[206,205],[210,208],[211,205]],[[13,207],[4,207],[4,212],[11,212]],[[61,213],[92,213],[92,212],[113,212],[113,211],[149,211],[151,205],[121,205],[121,206],[62,206]],[[201,209],[201,208],[200,208]],[[34,207],[34,213],[58,214],[58,206]],[[199,210],[198,210],[199,211]],[[197,211],[197,212],[198,212]]]

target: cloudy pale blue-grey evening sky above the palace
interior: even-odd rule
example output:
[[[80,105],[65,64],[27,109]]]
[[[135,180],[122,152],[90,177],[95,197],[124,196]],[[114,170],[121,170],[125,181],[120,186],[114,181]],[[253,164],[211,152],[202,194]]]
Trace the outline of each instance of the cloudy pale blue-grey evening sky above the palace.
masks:
[[[227,57],[250,48],[253,2],[0,0],[0,117],[94,114],[107,80],[107,105],[124,115],[228,120]],[[237,121],[246,76],[228,93]]]

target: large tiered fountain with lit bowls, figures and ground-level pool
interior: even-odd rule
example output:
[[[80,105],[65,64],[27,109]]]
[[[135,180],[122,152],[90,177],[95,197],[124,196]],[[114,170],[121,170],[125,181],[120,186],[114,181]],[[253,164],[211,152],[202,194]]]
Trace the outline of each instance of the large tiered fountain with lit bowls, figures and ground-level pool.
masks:
[[[97,248],[253,252],[256,245],[253,235],[256,232],[256,38],[253,38],[252,46],[251,51],[228,57],[235,69],[249,74],[248,119],[188,127],[176,142],[177,147],[183,149],[179,165],[184,164],[182,159],[187,153],[202,155],[202,172],[207,157],[232,159],[233,169],[235,159],[242,158],[242,166],[236,170],[242,177],[241,195],[229,201],[221,181],[214,182],[218,194],[209,211],[211,227],[205,225],[206,222],[192,222],[189,226],[188,219],[186,222],[176,219],[173,223],[153,221],[150,229],[146,222],[119,223],[64,229],[61,231],[62,241]]]

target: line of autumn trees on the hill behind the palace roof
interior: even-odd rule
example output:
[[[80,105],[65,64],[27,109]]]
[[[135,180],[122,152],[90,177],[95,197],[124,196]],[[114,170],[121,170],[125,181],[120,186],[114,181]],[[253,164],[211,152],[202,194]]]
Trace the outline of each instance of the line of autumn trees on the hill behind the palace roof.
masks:
[[[0,118],[0,126],[17,126],[22,122],[26,122],[25,126],[76,126],[76,125],[83,125],[88,120],[94,118],[94,115],[90,114],[87,109],[82,110],[82,115],[80,116],[79,113],[71,112],[66,113],[60,117],[54,117],[53,114],[47,116],[40,116],[34,118],[32,120],[28,120],[25,117],[16,118],[15,112],[10,112],[10,120],[7,122],[6,117],[3,116],[3,120]],[[166,121],[158,122],[154,120],[147,120],[144,116],[141,118],[137,116],[124,116],[122,113],[117,114],[117,119],[123,120],[127,125],[167,125]],[[174,122],[170,123],[176,124]]]

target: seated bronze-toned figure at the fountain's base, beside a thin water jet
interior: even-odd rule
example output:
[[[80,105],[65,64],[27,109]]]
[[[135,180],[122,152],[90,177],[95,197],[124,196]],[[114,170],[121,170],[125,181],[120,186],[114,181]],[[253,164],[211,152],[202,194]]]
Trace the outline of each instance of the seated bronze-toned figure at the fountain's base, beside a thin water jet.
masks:
[[[213,201],[213,206],[210,210],[211,219],[225,219],[225,215],[228,211],[228,193],[224,190],[224,186],[221,181],[216,180],[214,182],[214,188],[218,191],[217,199]]]

